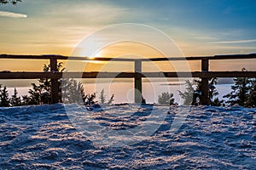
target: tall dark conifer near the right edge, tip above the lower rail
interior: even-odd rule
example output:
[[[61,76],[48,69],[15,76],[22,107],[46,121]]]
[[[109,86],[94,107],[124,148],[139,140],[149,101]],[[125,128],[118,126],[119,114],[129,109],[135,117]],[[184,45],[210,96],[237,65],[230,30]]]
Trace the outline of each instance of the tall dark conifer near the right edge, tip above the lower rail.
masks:
[[[242,68],[241,71],[247,71]],[[224,98],[228,98],[227,103],[230,105],[247,106],[249,90],[250,90],[250,78],[248,77],[236,77],[234,78],[235,85],[231,86],[232,91],[230,94],[224,95]]]

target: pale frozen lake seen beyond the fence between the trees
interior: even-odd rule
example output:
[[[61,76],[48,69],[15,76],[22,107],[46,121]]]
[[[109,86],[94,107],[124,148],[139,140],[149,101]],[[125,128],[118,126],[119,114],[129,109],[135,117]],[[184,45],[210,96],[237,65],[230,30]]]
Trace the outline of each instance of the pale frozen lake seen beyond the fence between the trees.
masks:
[[[218,97],[220,99],[223,99],[222,97],[225,94],[230,93],[231,90],[231,84],[218,84],[216,85],[216,88],[218,90]],[[19,95],[27,95],[28,90],[32,87],[17,87]],[[133,91],[133,82],[113,82],[113,83],[86,83],[84,84],[84,91],[86,94],[92,94],[94,92],[97,92],[97,96],[99,96],[99,93],[102,91],[102,89],[105,89],[105,94],[107,99],[111,97],[112,94],[114,94],[114,103],[133,103],[134,102],[134,91]],[[176,85],[175,83],[172,85],[168,85],[163,82],[144,82],[143,83],[143,97],[146,99],[147,103],[157,103],[158,95],[160,95],[163,92],[171,92],[174,95],[174,99],[177,103],[183,104],[182,99],[180,99],[180,96],[178,95],[177,90],[184,90],[185,86],[182,85]],[[8,88],[9,95],[14,94],[14,88]]]

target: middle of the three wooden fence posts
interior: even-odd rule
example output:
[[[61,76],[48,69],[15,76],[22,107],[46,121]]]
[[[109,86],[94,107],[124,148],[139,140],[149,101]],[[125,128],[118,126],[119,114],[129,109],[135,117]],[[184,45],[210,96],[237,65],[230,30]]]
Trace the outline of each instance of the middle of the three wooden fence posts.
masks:
[[[142,77],[138,76],[138,73],[142,72],[142,61],[136,60],[134,63],[135,77],[134,77],[134,102],[142,103],[143,101],[143,82]]]

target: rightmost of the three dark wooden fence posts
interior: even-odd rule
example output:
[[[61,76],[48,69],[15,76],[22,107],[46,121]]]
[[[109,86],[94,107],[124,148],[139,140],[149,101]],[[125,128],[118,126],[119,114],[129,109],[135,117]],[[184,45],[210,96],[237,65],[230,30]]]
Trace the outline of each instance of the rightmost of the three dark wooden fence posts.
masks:
[[[207,72],[209,71],[209,59],[201,59],[201,71]],[[209,85],[208,78],[201,77],[201,105],[209,105]]]

